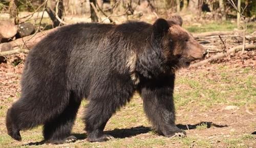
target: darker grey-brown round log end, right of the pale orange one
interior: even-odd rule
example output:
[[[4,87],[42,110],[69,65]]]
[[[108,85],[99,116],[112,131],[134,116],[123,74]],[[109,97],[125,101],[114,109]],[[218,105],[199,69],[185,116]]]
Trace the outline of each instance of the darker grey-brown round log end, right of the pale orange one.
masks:
[[[17,26],[18,26],[18,35],[20,37],[29,36],[35,31],[33,24],[30,22],[25,22]]]

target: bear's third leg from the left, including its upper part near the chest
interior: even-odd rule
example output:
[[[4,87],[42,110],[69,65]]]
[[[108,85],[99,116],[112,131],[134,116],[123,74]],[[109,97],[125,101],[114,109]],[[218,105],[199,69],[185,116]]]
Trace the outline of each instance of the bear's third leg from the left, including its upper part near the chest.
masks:
[[[134,88],[131,85],[132,81],[129,79],[129,75],[113,79],[108,78],[103,80],[104,84],[93,89],[95,91],[89,96],[90,103],[87,106],[86,116],[84,117],[88,141],[102,142],[114,138],[111,135],[103,134],[103,130],[112,114],[130,101]],[[123,86],[120,87],[119,84]]]

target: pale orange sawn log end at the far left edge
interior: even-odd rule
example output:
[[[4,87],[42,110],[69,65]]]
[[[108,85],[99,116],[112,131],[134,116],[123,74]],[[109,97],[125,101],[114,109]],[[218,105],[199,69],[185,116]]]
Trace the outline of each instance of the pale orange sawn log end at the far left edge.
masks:
[[[0,34],[2,39],[9,39],[17,34],[18,28],[12,21],[0,20]]]

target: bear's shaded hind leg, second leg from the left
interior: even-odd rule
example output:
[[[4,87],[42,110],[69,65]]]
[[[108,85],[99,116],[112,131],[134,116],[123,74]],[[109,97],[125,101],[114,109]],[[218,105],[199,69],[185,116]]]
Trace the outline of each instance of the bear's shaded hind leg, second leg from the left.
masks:
[[[76,114],[81,103],[81,100],[77,99],[72,94],[65,110],[54,119],[45,123],[43,134],[47,142],[61,144],[77,140],[75,136],[71,135]]]

